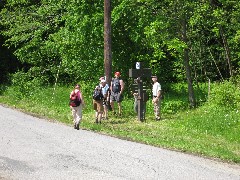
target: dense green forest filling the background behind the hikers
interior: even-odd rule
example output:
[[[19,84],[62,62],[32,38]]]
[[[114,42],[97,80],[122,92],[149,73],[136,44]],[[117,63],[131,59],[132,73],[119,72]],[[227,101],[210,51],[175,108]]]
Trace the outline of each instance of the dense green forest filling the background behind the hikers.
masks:
[[[137,61],[162,84],[238,75],[240,4],[230,0],[111,1],[112,72]],[[98,81],[104,75],[104,0],[1,0],[1,83]],[[112,73],[112,74],[113,74]]]

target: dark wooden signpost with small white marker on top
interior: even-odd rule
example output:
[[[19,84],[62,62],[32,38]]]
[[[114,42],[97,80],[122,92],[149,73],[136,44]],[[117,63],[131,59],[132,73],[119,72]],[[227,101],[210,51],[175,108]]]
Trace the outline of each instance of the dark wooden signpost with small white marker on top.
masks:
[[[129,69],[129,77],[136,78],[135,82],[137,83],[138,87],[138,120],[144,121],[145,120],[145,109],[144,103],[148,100],[148,96],[146,90],[143,89],[143,78],[150,78],[151,77],[151,69],[144,68],[141,69],[141,63],[136,62],[136,69]]]

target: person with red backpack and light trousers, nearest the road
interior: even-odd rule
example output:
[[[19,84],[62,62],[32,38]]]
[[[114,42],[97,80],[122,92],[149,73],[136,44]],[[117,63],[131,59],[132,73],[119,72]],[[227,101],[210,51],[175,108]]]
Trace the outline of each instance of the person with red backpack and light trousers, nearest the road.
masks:
[[[79,124],[82,120],[82,108],[84,105],[79,84],[76,84],[74,90],[70,93],[69,105],[72,111],[74,129],[79,130]]]

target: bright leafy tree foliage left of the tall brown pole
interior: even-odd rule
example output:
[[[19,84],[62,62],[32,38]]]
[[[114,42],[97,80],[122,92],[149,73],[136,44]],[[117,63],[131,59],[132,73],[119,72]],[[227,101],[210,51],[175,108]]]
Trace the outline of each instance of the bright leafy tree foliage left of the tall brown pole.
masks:
[[[1,12],[4,19],[1,25],[9,29],[3,31],[8,38],[5,45],[14,47],[22,63],[40,69],[35,75],[46,75],[51,83],[58,70],[59,81],[63,82],[66,78],[68,81],[88,79],[93,71],[102,74],[103,9],[99,8],[100,3],[7,3]]]

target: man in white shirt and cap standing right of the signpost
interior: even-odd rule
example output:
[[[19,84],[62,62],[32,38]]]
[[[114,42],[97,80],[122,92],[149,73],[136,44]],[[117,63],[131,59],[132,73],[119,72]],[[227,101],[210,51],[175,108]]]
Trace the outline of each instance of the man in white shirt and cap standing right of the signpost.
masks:
[[[152,88],[152,94],[153,94],[153,110],[154,115],[157,121],[161,119],[161,85],[158,83],[157,76],[152,76],[153,81],[153,88]]]

